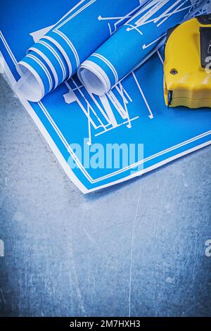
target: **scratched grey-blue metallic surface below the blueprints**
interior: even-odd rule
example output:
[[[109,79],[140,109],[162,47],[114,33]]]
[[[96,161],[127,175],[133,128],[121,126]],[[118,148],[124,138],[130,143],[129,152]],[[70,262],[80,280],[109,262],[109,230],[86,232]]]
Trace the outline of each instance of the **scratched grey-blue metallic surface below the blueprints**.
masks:
[[[210,152],[84,196],[0,75],[0,316],[211,316]]]

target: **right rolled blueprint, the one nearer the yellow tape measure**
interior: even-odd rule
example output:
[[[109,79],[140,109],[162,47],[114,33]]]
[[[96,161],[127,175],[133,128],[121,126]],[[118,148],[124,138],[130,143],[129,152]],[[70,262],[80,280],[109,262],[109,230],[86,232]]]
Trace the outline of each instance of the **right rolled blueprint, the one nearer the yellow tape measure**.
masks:
[[[78,70],[79,80],[89,92],[99,96],[105,94],[158,50],[170,27],[190,18],[206,2],[203,0],[148,1],[82,63]]]

